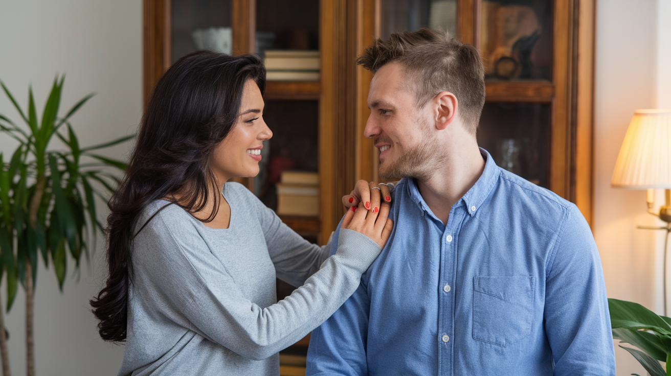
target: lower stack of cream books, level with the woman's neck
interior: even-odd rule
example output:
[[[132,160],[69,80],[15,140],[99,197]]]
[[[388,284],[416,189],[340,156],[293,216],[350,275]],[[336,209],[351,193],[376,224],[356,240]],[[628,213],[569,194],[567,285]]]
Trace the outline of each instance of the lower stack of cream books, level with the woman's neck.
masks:
[[[319,215],[319,176],[316,172],[282,172],[276,188],[278,215]]]

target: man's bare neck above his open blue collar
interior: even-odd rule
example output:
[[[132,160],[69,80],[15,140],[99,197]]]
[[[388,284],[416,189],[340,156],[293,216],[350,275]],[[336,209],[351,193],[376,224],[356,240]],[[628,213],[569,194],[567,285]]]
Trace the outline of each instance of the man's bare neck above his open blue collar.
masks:
[[[419,194],[431,212],[447,225],[450,209],[478,181],[484,159],[474,137],[446,145],[448,155],[426,181],[418,181]]]

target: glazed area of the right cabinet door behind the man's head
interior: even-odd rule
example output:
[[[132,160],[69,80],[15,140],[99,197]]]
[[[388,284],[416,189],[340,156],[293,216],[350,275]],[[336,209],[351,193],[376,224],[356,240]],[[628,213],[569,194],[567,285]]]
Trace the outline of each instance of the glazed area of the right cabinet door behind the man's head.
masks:
[[[464,29],[467,22],[460,25],[457,10],[479,9],[473,40],[479,41],[482,52],[488,97],[478,145],[502,168],[544,187],[550,186],[552,95],[547,93],[552,92],[552,4],[551,0],[382,0],[380,25],[383,39],[421,27],[470,35]],[[539,92],[546,95],[534,95]]]

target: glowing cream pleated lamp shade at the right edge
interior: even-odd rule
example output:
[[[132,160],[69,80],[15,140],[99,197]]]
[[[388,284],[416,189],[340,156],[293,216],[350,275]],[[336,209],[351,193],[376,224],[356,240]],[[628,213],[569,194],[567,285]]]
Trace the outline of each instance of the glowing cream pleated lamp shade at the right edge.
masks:
[[[671,188],[671,110],[637,110],[617,155],[614,187]]]

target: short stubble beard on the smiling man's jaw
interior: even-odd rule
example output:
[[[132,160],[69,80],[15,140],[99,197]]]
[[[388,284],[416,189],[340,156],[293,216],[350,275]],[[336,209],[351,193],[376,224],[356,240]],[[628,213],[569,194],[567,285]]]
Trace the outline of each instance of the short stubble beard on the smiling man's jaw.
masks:
[[[417,125],[424,135],[423,142],[405,152],[399,150],[403,154],[396,161],[380,164],[378,171],[380,180],[415,178],[420,182],[427,182],[442,165],[445,155],[440,150],[437,140],[429,134],[429,125],[422,121],[417,121]]]

